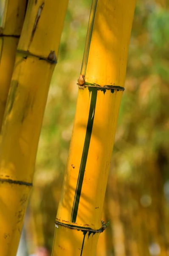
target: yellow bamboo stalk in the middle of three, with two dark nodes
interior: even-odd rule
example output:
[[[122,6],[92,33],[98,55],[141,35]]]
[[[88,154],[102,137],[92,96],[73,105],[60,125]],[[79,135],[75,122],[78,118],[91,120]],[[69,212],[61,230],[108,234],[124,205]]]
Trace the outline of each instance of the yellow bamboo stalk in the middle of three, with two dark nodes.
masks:
[[[68,0],[29,0],[0,138],[0,256],[15,256]]]

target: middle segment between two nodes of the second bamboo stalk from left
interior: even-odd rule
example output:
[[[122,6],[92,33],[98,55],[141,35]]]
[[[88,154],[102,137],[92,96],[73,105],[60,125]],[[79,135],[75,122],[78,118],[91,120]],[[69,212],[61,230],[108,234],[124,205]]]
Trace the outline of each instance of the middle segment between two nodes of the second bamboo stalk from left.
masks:
[[[53,70],[54,65],[38,58],[16,58],[0,140],[1,178],[32,182]]]

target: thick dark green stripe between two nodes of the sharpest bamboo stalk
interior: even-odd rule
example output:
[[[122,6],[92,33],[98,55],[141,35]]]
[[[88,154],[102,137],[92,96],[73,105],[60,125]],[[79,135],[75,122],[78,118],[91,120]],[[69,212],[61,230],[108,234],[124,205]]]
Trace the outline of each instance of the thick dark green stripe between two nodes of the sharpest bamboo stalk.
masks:
[[[94,88],[94,87],[90,87],[90,88],[91,88],[90,89],[91,90],[90,110],[89,110],[89,116],[88,116],[88,122],[87,122],[87,129],[86,129],[86,136],[85,136],[85,143],[84,143],[84,147],[83,147],[82,159],[81,159],[81,163],[80,163],[79,176],[78,176],[78,180],[77,180],[76,191],[75,191],[73,207],[72,207],[72,214],[71,214],[71,221],[73,223],[76,222],[79,201],[80,201],[80,195],[81,195],[81,191],[82,191],[83,178],[85,175],[87,155],[88,155],[88,151],[89,151],[90,139],[91,139],[92,128],[93,128],[95,108],[96,108],[97,88]]]

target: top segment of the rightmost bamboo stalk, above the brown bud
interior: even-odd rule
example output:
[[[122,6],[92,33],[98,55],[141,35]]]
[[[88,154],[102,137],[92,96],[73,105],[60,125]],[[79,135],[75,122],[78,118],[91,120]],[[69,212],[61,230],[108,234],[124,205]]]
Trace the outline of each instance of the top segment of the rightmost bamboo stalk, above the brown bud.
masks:
[[[87,82],[124,87],[134,9],[135,0],[93,0],[82,63]]]

